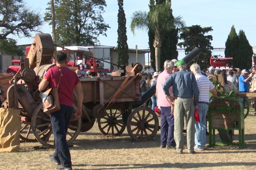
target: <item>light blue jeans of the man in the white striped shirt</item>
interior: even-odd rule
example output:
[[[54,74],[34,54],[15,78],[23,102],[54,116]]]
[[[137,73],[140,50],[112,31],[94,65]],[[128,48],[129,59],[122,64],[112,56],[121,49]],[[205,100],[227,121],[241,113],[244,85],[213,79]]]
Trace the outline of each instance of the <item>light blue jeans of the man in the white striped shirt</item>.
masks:
[[[199,149],[204,149],[204,145],[206,145],[206,115],[208,107],[207,104],[198,103],[200,123],[195,121],[195,147]]]

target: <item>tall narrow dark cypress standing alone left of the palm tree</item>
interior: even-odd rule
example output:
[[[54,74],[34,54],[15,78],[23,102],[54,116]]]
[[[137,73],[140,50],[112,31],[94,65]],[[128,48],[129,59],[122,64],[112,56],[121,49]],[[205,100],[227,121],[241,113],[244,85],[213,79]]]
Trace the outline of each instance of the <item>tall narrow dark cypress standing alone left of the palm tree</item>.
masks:
[[[118,64],[128,65],[128,45],[126,35],[126,19],[123,10],[123,0],[118,0]]]

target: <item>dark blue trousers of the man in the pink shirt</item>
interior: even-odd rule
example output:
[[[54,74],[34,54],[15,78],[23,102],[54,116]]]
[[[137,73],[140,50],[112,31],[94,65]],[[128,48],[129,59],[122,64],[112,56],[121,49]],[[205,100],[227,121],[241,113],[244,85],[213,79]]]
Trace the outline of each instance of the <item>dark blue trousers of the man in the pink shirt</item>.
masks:
[[[161,145],[175,146],[174,141],[174,117],[171,115],[171,107],[160,107],[161,110]]]

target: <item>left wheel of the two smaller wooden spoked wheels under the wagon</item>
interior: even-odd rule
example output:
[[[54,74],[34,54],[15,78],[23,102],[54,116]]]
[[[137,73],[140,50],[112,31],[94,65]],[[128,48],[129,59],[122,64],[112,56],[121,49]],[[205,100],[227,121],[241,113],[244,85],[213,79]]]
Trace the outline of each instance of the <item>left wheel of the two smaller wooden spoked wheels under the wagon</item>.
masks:
[[[121,109],[107,109],[106,112],[106,116],[98,119],[100,132],[104,135],[121,135],[126,127]]]

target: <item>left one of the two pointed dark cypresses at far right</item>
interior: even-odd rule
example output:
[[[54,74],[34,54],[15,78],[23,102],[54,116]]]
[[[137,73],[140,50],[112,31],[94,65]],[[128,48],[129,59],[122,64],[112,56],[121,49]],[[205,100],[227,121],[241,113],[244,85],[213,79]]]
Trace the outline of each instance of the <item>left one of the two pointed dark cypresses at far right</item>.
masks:
[[[240,56],[238,56],[238,45],[239,45],[239,38],[236,33],[235,26],[232,25],[231,31],[229,35],[227,36],[226,41],[226,48],[225,48],[225,58],[233,58],[233,67],[240,68],[239,62],[237,63],[236,59],[238,59]]]

